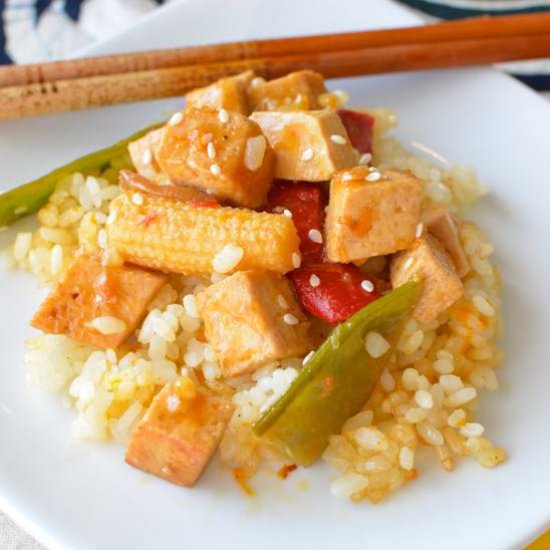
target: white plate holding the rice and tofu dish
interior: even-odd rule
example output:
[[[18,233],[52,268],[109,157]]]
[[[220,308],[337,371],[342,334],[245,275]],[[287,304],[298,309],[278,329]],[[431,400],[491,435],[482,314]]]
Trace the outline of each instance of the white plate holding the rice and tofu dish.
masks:
[[[244,37],[410,24],[394,4],[361,0],[188,1],[170,5],[95,52]],[[510,460],[453,475],[428,468],[379,506],[328,494],[323,467],[293,474],[246,499],[210,467],[188,491],[123,462],[115,446],[75,444],[72,414],[25,383],[23,339],[39,300],[30,276],[0,274],[0,504],[53,548],[519,547],[550,520],[550,110],[487,69],[353,79],[335,85],[357,104],[389,105],[404,141],[433,145],[478,168],[493,189],[475,218],[497,245],[505,292],[504,388],[482,400],[481,419]],[[1,186],[8,188],[163,118],[155,102],[0,125]],[[5,241],[6,234],[0,235]],[[309,489],[297,489],[308,478]]]

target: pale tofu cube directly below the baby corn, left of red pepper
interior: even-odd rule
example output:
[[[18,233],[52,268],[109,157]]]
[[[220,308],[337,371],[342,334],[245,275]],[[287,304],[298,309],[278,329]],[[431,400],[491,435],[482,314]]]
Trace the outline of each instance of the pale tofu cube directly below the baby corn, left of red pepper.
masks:
[[[240,376],[312,349],[309,322],[288,280],[267,271],[239,271],[198,296],[205,335],[225,376]]]

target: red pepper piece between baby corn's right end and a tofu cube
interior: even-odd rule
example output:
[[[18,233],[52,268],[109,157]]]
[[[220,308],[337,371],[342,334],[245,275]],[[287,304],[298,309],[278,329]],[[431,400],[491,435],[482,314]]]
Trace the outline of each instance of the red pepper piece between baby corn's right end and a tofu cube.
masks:
[[[269,212],[292,214],[292,221],[300,237],[302,265],[321,262],[323,243],[311,240],[310,230],[323,234],[325,206],[327,200],[322,188],[317,183],[276,181],[267,197]]]

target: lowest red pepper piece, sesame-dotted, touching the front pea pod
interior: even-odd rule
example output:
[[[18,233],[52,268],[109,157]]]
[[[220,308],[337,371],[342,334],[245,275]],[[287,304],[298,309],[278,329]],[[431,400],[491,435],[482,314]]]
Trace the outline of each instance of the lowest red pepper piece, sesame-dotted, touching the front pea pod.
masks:
[[[381,283],[352,264],[309,264],[288,277],[304,310],[331,325],[345,321],[382,295]]]

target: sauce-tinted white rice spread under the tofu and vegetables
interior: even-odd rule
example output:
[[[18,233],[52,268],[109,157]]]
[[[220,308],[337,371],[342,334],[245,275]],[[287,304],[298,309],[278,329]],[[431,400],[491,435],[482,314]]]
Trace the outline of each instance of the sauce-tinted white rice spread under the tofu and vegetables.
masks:
[[[412,155],[387,136],[397,124],[395,115],[385,109],[371,112],[377,119],[373,164],[410,170],[424,182],[427,204],[445,204],[460,214],[485,194],[471,169]],[[7,264],[52,284],[78,249],[105,249],[105,226],[112,221],[109,203],[120,192],[115,182],[113,171],[62,179],[38,213],[40,227],[17,235],[5,254]],[[473,223],[462,224],[460,237],[472,266],[464,297],[432,323],[411,319],[405,324],[364,409],[330,438],[323,458],[335,471],[330,485],[334,496],[379,502],[419,475],[415,464],[420,447],[430,449],[448,471],[461,457],[484,467],[506,458],[504,450],[484,437],[485,427],[475,415],[481,393],[498,389],[503,360],[496,346],[501,301],[499,273],[490,261],[494,247]],[[219,273],[211,278],[172,277],[150,305],[131,349],[100,351],[56,335],[27,342],[31,383],[59,392],[74,407],[77,437],[127,443],[162,385],[191,376],[232,394],[236,410],[220,446],[224,464],[252,475],[263,460],[284,460],[253,435],[251,426],[286,391],[303,358],[274,362],[237,380],[221,378],[194,296],[224,278],[226,264],[234,260],[227,256],[219,259]],[[376,357],[385,341],[370,333],[365,345]]]

